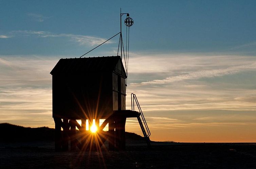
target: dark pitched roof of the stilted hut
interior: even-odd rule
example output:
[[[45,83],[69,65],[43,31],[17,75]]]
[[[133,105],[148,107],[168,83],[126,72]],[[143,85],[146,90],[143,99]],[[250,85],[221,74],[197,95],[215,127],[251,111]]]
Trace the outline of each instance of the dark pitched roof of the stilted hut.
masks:
[[[116,70],[118,61],[121,62],[122,72],[125,74],[120,56],[60,59],[50,74],[112,72]]]

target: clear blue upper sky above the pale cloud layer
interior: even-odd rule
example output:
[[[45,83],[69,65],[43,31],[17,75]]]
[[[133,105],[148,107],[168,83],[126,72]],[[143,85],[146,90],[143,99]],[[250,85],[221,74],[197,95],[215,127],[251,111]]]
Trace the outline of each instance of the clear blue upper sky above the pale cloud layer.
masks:
[[[255,54],[255,1],[1,1],[1,34],[15,37],[1,40],[1,52],[79,55],[89,47],[68,37],[13,31],[109,38],[119,32],[120,7],[135,21],[133,51]]]

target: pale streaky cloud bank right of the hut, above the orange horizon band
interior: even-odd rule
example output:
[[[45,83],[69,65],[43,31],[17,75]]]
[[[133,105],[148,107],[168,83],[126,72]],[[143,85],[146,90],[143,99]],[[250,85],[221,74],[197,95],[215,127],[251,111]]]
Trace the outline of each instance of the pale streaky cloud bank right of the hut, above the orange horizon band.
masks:
[[[144,112],[256,110],[255,56],[131,54],[129,61],[127,93]]]

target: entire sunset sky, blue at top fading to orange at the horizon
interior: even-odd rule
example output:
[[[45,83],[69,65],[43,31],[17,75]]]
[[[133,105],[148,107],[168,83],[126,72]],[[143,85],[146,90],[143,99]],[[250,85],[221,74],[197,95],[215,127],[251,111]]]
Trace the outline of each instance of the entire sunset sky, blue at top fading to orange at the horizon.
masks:
[[[151,140],[256,142],[253,0],[0,0],[0,123],[54,128],[50,71],[120,32],[120,8],[134,20],[126,108],[135,93]],[[142,135],[134,118],[126,131]]]

